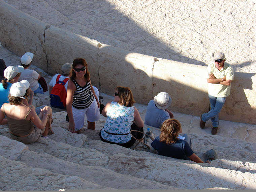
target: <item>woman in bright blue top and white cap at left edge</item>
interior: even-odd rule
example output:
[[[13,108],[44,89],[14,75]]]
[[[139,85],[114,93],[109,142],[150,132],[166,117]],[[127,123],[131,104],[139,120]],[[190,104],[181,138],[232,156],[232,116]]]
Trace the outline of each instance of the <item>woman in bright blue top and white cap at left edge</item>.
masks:
[[[19,77],[21,76],[21,72],[24,70],[22,66],[9,66],[4,70],[4,79],[0,84],[0,106],[2,106],[5,102],[9,102],[8,95],[10,87],[13,83],[19,81]]]

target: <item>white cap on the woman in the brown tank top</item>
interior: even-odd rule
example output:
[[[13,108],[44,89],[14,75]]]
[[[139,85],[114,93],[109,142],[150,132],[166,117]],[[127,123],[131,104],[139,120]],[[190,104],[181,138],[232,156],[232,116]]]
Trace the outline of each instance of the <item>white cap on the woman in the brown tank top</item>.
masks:
[[[23,97],[26,94],[27,89],[29,88],[29,82],[27,80],[22,80],[21,82],[17,82],[12,84],[10,88],[10,95],[13,97]]]

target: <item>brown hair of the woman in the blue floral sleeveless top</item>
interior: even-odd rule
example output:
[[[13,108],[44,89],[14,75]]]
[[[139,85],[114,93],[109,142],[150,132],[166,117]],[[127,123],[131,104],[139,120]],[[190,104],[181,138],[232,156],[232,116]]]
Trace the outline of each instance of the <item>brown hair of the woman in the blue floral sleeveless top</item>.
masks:
[[[129,87],[116,87],[116,90],[118,91],[119,95],[119,101],[120,105],[124,105],[126,107],[131,107],[135,103],[132,95],[132,91]]]

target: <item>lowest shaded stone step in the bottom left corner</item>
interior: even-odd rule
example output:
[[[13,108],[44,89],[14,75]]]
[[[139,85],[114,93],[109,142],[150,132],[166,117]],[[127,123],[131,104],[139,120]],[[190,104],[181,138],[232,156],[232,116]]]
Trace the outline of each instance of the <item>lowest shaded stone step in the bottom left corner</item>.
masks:
[[[2,143],[2,142],[1,142]],[[33,157],[29,157],[32,159]],[[20,161],[0,156],[0,190],[3,191],[58,191],[63,189],[113,189],[86,181],[77,176],[54,173],[34,168]]]

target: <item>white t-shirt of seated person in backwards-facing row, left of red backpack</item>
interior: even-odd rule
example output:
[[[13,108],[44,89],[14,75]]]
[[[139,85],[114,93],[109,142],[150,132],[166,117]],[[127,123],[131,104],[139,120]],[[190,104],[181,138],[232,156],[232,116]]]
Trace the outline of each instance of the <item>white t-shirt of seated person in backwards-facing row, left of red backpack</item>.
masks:
[[[37,81],[38,76],[39,74],[35,70],[25,69],[24,71],[21,72],[19,81],[27,80],[30,85],[29,87],[32,89],[32,91],[35,91],[39,87],[39,84]]]

